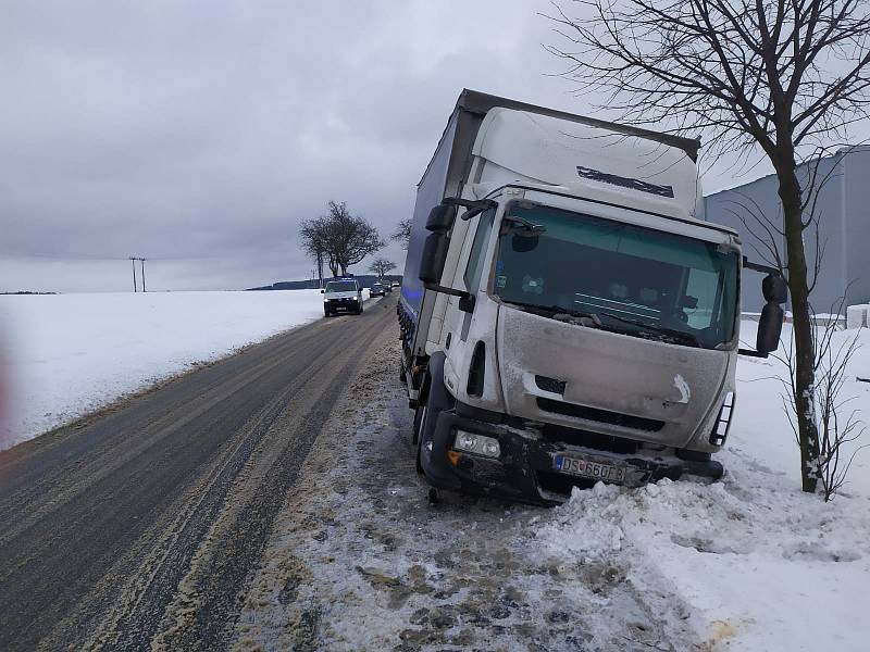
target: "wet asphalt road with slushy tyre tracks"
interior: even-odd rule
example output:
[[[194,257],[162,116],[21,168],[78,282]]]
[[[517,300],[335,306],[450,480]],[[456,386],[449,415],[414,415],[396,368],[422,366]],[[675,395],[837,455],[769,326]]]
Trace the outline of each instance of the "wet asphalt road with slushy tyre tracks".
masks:
[[[0,453],[0,650],[221,649],[395,296]]]

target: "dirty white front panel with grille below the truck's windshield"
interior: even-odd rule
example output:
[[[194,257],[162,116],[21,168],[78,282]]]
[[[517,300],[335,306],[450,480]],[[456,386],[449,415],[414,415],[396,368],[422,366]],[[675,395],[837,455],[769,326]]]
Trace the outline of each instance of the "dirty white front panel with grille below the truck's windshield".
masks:
[[[577,326],[505,304],[496,337],[509,414],[669,447],[685,446],[698,424],[706,427],[729,366],[725,351]]]

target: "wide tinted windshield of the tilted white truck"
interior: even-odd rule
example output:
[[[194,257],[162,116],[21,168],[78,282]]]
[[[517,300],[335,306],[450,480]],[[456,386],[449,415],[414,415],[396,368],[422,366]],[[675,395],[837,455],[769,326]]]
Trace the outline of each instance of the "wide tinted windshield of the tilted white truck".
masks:
[[[713,242],[514,205],[502,220],[493,292],[563,321],[714,348],[734,336],[737,269],[737,252]]]

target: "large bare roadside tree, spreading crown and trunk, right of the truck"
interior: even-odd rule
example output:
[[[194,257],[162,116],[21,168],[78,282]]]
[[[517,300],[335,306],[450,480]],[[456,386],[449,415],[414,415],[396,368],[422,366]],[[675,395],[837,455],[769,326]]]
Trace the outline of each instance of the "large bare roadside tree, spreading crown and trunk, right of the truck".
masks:
[[[783,268],[794,313],[794,411],[801,485],[819,480],[816,350],[805,230],[813,179],[798,165],[842,138],[870,101],[866,0],[579,0],[586,17],[555,4],[580,90],[637,124],[700,134],[713,154],[739,151],[773,166],[782,203]]]

